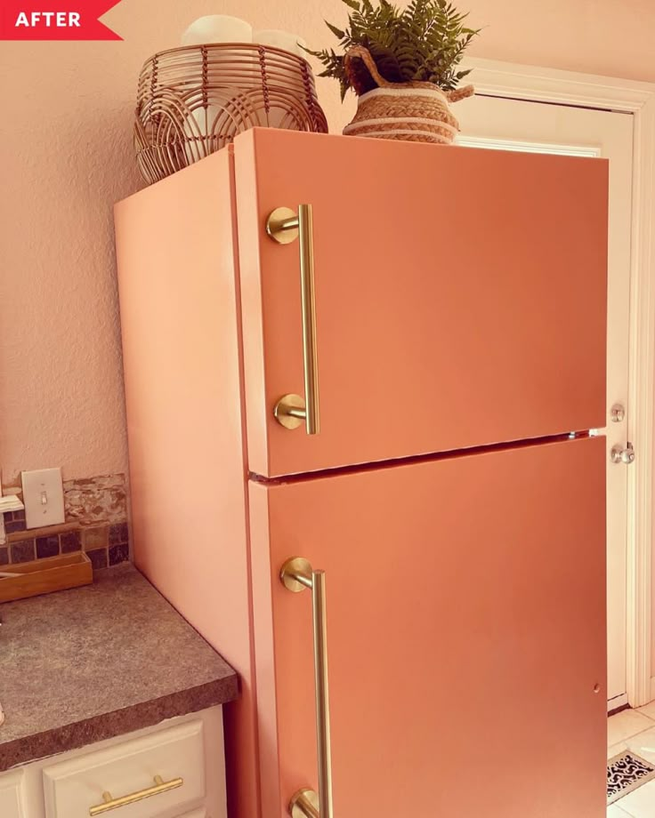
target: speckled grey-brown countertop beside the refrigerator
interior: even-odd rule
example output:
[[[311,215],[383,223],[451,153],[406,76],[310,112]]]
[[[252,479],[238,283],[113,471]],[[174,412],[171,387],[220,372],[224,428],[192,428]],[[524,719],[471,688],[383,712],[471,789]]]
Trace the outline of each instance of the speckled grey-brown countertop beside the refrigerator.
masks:
[[[0,605],[0,771],[235,699],[237,675],[141,573]]]

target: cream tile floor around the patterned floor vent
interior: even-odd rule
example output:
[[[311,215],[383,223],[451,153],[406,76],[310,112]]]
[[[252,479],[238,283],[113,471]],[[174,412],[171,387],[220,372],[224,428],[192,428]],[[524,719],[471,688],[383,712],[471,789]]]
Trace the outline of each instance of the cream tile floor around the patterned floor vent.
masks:
[[[622,710],[607,723],[607,758],[623,750],[655,764],[655,702],[639,710]],[[619,798],[607,808],[607,818],[654,818],[655,779]]]

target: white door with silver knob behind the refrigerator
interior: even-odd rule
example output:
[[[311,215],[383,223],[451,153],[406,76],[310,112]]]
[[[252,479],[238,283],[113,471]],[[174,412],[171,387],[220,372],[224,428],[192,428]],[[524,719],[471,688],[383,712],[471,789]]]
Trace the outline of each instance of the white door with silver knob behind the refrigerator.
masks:
[[[608,247],[607,592],[608,699],[626,694],[627,462],[611,460],[614,446],[627,447],[630,234],[632,225],[633,117],[522,100],[475,96],[457,103],[459,143],[475,147],[604,156],[610,159]],[[554,237],[556,240],[556,237]],[[562,293],[565,297],[566,293]],[[575,400],[575,396],[571,396]],[[612,407],[623,410],[614,413]]]

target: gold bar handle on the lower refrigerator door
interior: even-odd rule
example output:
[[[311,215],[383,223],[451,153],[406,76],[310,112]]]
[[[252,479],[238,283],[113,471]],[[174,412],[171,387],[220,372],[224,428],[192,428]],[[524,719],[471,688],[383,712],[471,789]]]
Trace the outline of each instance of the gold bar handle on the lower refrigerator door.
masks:
[[[319,757],[319,791],[299,790],[288,806],[291,818],[333,818],[330,703],[327,689],[327,619],[325,571],[314,571],[303,557],[292,557],[279,573],[288,590],[311,589],[314,631],[314,684],[316,694],[316,742]]]

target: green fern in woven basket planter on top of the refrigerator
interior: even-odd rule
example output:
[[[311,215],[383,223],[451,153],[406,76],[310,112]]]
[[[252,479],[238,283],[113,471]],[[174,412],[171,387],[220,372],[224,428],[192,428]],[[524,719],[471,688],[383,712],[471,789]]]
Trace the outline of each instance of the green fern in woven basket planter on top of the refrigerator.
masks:
[[[449,0],[412,0],[400,10],[389,0],[343,0],[350,8],[334,49],[307,50],[341,85],[342,100],[352,89],[357,114],[344,133],[392,140],[449,144],[459,125],[450,102],[473,94],[457,87],[469,71],[459,70],[466,46],[479,29]]]

